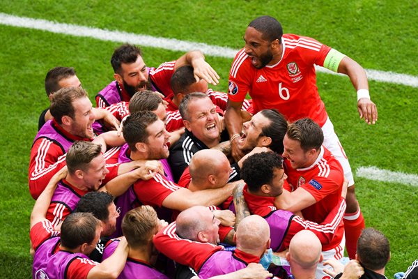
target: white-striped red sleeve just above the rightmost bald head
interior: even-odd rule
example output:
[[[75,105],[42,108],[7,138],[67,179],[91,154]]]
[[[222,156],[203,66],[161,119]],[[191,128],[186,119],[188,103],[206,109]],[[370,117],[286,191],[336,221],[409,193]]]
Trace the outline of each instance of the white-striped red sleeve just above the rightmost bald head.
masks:
[[[291,225],[288,229],[286,237],[284,239],[284,246],[288,248],[291,239],[297,232],[300,232],[302,229],[308,229],[311,232],[314,232],[320,243],[325,246],[332,241],[334,234],[339,233],[339,225],[343,220],[344,213],[346,212],[346,200],[343,197],[340,197],[339,202],[334,209],[328,213],[327,217],[323,223],[314,223],[308,220],[303,220],[300,216],[295,216]]]

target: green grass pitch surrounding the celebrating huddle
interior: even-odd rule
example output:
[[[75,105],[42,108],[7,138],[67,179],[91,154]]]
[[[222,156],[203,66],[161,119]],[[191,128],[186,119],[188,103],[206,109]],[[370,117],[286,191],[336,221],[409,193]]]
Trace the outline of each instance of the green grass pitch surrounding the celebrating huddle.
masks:
[[[284,3],[282,3],[284,2]],[[0,13],[88,27],[177,38],[240,48],[247,24],[272,15],[285,33],[311,36],[364,68],[418,76],[417,1],[5,1]],[[38,116],[47,107],[47,70],[72,66],[91,100],[113,76],[110,56],[119,43],[0,25],[0,278],[29,278],[27,185],[29,152]],[[148,66],[183,53],[143,47]],[[232,59],[206,57],[225,91]],[[418,174],[418,89],[369,82],[379,121],[359,120],[353,86],[346,77],[318,73],[318,88],[353,171],[373,165]],[[418,189],[356,179],[366,226],[380,229],[391,243],[387,277],[418,258]]]

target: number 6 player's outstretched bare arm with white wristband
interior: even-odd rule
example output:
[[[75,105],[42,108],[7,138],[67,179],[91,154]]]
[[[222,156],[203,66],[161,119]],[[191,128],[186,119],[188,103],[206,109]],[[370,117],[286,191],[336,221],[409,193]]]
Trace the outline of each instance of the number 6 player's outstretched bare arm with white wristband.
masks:
[[[344,56],[338,66],[338,73],[343,73],[350,77],[351,83],[357,90],[357,110],[360,119],[364,118],[366,123],[376,123],[378,121],[378,109],[370,100],[369,83],[367,82],[366,71],[353,59]]]

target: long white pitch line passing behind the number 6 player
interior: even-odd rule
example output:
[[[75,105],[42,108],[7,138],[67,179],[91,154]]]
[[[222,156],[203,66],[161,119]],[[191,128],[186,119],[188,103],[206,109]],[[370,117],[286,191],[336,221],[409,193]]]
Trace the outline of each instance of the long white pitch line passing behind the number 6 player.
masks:
[[[78,37],[95,38],[98,40],[131,43],[142,45],[144,47],[159,47],[164,50],[181,52],[188,52],[189,50],[201,50],[206,55],[225,58],[234,58],[235,54],[238,52],[238,50],[233,50],[229,47],[220,47],[217,45],[207,45],[205,43],[194,43],[170,38],[153,37],[148,35],[127,33],[123,31],[109,31],[106,29],[83,27],[75,24],[63,24],[51,22],[48,20],[38,20],[30,17],[17,17],[15,15],[8,15],[5,13],[0,13],[0,24],[13,27],[24,27],[49,31],[52,33],[61,33]],[[321,73],[331,73],[338,75],[330,70],[318,66],[316,67],[316,70]],[[366,69],[366,73],[369,80],[418,87],[418,77],[413,75],[370,69]]]

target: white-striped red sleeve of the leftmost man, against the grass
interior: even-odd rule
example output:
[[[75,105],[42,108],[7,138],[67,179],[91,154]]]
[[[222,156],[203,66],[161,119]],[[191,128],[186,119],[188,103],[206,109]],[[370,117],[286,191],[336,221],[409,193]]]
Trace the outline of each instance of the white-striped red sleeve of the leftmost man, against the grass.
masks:
[[[38,199],[52,176],[66,165],[64,153],[58,144],[45,137],[33,144],[29,162],[29,191],[33,199]]]

